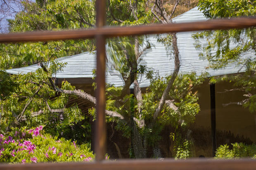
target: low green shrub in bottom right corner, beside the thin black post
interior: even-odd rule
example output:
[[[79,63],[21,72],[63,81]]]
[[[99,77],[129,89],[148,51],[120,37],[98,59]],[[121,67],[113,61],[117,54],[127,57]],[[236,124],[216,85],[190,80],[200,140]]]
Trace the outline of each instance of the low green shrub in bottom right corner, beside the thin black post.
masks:
[[[220,145],[216,151],[216,158],[256,158],[256,145],[234,143],[232,144],[232,149],[229,149],[227,144]]]

